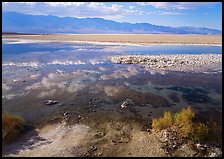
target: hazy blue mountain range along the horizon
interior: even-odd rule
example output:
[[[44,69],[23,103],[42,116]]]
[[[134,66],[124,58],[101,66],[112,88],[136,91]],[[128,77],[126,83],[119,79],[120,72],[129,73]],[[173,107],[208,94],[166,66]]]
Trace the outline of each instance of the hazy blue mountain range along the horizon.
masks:
[[[72,18],[2,13],[2,32],[72,34],[222,34],[222,31],[196,27],[169,27],[149,23],[120,23],[102,18]]]

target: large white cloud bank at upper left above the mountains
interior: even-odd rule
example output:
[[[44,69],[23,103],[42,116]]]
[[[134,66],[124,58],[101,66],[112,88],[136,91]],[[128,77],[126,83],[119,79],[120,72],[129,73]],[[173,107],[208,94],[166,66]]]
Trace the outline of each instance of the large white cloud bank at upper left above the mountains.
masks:
[[[116,19],[131,11],[118,4],[106,5],[99,2],[10,2],[2,4],[3,11],[76,18]]]

